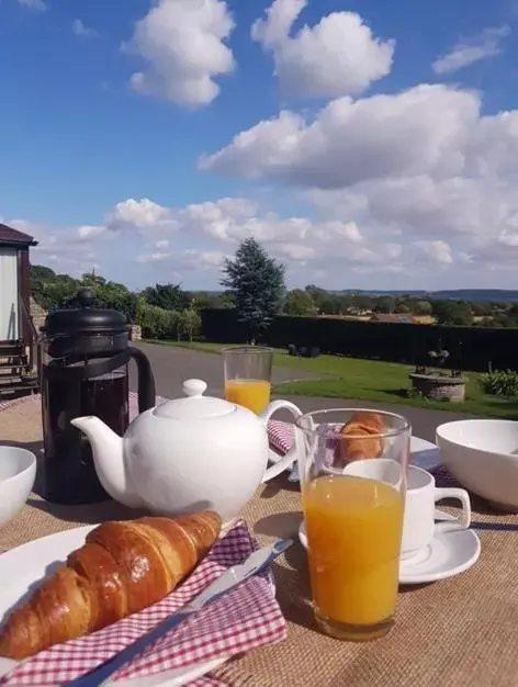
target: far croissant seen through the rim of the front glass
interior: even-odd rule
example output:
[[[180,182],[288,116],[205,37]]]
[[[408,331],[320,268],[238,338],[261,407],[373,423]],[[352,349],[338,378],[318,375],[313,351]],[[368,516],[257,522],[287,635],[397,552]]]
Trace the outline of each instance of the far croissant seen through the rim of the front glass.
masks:
[[[340,429],[339,455],[344,464],[356,460],[379,458],[383,452],[385,419],[378,413],[354,413]],[[350,438],[349,438],[350,437]]]

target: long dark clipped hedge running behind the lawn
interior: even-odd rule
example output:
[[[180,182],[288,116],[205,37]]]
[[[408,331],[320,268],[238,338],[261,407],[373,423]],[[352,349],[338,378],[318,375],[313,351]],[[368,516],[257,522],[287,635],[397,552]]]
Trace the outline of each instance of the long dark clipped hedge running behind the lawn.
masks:
[[[202,336],[215,344],[244,344],[245,328],[234,309],[202,311]],[[450,352],[448,368],[486,371],[516,370],[518,328],[446,327],[378,323],[326,317],[279,316],[263,344],[277,348],[316,346],[323,353],[405,362],[430,363],[428,351],[440,346]]]

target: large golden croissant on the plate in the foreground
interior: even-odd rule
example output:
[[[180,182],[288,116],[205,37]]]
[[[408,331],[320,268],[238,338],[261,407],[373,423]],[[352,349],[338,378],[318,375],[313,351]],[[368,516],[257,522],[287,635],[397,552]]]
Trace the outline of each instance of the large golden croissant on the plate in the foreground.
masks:
[[[100,525],[9,617],[0,656],[32,656],[156,604],[207,553],[221,527],[211,510]]]

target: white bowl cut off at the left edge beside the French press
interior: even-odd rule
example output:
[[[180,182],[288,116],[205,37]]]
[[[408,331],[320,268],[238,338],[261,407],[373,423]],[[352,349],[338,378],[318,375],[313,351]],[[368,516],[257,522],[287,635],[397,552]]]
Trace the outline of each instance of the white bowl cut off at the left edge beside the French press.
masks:
[[[36,478],[36,457],[31,451],[0,446],[0,526],[27,500]]]

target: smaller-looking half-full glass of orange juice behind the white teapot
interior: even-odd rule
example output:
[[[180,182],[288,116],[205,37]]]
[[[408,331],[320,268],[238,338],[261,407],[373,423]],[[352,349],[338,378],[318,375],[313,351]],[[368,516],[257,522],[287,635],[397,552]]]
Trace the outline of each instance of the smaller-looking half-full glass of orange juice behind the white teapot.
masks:
[[[229,346],[223,349],[225,398],[262,413],[270,403],[273,349]]]

